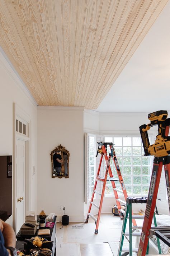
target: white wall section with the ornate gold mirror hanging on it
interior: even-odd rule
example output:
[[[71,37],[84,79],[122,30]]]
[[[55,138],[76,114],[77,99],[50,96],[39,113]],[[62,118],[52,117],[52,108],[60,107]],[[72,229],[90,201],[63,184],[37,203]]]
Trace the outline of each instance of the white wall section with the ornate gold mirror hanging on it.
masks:
[[[82,107],[39,107],[37,111],[37,210],[84,221],[84,133]],[[50,153],[58,145],[70,153],[69,178],[51,178]],[[59,218],[60,220],[60,218]]]

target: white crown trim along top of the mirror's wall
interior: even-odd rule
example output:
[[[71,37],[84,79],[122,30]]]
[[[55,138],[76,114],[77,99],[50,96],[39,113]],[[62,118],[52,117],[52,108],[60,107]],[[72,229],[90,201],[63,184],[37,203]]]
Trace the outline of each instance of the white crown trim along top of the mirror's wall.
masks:
[[[84,107],[37,106],[37,111],[84,111]]]

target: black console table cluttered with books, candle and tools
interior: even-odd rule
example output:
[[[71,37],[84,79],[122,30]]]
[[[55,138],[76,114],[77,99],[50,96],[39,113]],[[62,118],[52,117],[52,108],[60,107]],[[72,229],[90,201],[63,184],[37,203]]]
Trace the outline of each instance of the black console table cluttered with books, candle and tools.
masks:
[[[50,234],[49,235],[39,235],[45,239],[47,239],[48,241],[52,241],[53,242],[53,247],[52,247],[52,256],[56,256],[56,217],[54,219],[54,223],[55,225],[52,228],[49,228],[50,230]],[[37,221],[39,221],[39,215],[37,215]],[[30,239],[31,237],[36,237],[38,236],[38,230],[35,235],[21,235],[20,234],[20,230],[19,232],[16,234],[16,248],[22,248],[22,245],[24,246],[24,243],[20,243],[19,241],[24,241],[25,238]]]

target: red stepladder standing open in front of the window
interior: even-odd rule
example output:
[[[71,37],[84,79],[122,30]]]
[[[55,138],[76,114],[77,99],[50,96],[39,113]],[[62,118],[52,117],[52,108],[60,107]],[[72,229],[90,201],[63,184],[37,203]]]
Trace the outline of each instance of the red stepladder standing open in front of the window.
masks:
[[[108,157],[108,154],[107,154],[107,145],[109,145],[110,151],[111,151],[111,153],[109,153],[109,157]],[[96,229],[95,229],[95,232],[94,232],[95,234],[98,234],[100,214],[101,214],[101,207],[102,207],[102,203],[103,203],[106,182],[107,181],[111,181],[113,192],[114,192],[114,196],[115,196],[115,199],[116,199],[116,203],[117,203],[117,207],[118,207],[119,215],[120,215],[121,219],[123,219],[123,215],[124,215],[124,211],[121,209],[121,203],[126,205],[126,198],[128,197],[127,192],[126,192],[126,188],[125,188],[125,185],[124,185],[124,182],[123,182],[122,174],[121,174],[121,171],[120,171],[120,168],[119,168],[119,165],[118,165],[118,161],[117,161],[117,158],[116,158],[116,154],[115,154],[115,151],[114,151],[114,148],[113,148],[113,143],[112,142],[111,143],[105,143],[105,142],[98,143],[98,152],[101,153],[101,158],[100,158],[98,172],[97,172],[96,180],[95,180],[95,184],[94,184],[94,190],[93,190],[93,193],[92,193],[91,202],[90,202],[90,206],[89,206],[89,210],[88,210],[88,215],[87,215],[87,218],[86,218],[86,221],[85,221],[86,223],[88,223],[89,216],[92,219],[94,219],[95,224],[96,224]],[[98,156],[98,152],[97,152],[96,157]],[[105,161],[106,161],[106,164],[107,164],[107,168],[106,168],[106,172],[105,172],[104,178],[99,176],[101,162],[103,160],[103,155],[104,155],[104,158],[105,158]],[[117,174],[118,174],[118,178],[119,178],[119,182],[121,184],[122,190],[121,189],[117,189],[116,186],[115,186],[115,182],[114,181],[117,181],[118,179],[113,178],[113,175],[112,175],[112,170],[110,168],[110,158],[111,158],[111,156],[113,157],[114,165],[115,165],[115,168],[117,170]],[[109,173],[109,177],[108,177],[108,173]],[[96,186],[97,186],[98,181],[103,182],[103,188],[102,188],[102,192],[101,193],[96,191]],[[122,199],[119,199],[117,192],[123,193],[125,201],[123,201]],[[96,205],[93,202],[95,193],[97,193],[97,194],[99,194],[101,196],[100,205],[99,206]],[[97,219],[92,214],[90,214],[91,206],[92,205],[94,205],[95,207],[97,207],[99,209]],[[137,226],[136,220],[132,220],[132,222],[133,222],[134,226]]]

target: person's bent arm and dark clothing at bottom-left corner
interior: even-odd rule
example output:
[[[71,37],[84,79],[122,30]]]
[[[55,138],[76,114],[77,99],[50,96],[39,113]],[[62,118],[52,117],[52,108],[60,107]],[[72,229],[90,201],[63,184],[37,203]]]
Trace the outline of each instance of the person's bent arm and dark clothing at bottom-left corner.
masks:
[[[0,219],[0,255],[16,256],[16,237],[14,229]]]

